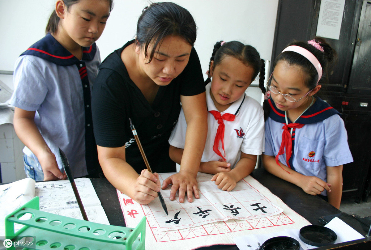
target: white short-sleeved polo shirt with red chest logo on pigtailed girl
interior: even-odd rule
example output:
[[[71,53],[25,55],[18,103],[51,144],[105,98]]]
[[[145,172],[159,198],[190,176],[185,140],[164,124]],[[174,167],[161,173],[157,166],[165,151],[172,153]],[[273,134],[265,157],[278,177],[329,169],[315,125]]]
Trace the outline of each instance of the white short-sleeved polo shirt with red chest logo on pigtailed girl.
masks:
[[[211,83],[206,85],[207,109],[218,111],[210,96]],[[236,166],[240,159],[241,151],[245,154],[260,155],[264,151],[264,116],[262,106],[245,93],[224,112],[220,114],[236,115],[234,121],[224,122],[224,150],[226,161],[231,164],[231,168]],[[207,138],[201,162],[219,161],[221,157],[213,151],[214,139],[218,129],[218,121],[213,114],[207,115]],[[184,148],[185,132],[187,123],[185,122],[184,112],[181,109],[179,119],[171,132],[169,143],[177,148]],[[219,142],[219,151],[224,156],[224,151]]]

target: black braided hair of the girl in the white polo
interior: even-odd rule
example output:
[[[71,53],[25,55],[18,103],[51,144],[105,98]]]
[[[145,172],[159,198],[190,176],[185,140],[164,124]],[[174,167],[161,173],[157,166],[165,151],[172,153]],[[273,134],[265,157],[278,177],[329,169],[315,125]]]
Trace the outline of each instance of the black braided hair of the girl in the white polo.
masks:
[[[221,45],[222,43],[223,45]],[[210,57],[209,69],[211,61],[214,61],[214,69],[215,66],[221,63],[226,56],[233,56],[234,58],[240,60],[243,64],[251,66],[254,69],[251,81],[253,81],[259,74],[259,88],[263,93],[266,92],[266,89],[264,88],[265,62],[260,58],[259,52],[257,52],[253,46],[244,45],[243,43],[237,41],[226,43],[223,41],[217,42],[214,45],[213,53]],[[211,82],[211,79],[207,78],[205,84],[209,82]]]

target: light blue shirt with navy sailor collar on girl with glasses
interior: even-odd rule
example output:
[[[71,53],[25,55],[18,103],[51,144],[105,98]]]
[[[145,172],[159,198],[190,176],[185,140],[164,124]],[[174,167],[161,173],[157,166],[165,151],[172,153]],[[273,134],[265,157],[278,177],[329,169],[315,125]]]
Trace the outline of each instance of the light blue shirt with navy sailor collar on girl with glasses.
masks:
[[[286,123],[285,112],[276,108],[272,99],[268,103],[270,113],[265,122],[264,154],[276,156],[282,142],[282,126]],[[293,129],[292,155],[289,159],[293,170],[327,181],[326,166],[335,167],[353,161],[344,121],[338,114],[334,108],[316,97],[313,106],[296,120],[295,123],[304,126]],[[286,149],[278,159],[286,165]],[[321,194],[327,195],[326,190]]]

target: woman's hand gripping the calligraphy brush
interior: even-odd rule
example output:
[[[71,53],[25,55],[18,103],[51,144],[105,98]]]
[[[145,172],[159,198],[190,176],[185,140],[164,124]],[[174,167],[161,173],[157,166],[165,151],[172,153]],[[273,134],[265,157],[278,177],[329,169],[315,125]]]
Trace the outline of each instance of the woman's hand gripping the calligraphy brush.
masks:
[[[157,197],[161,184],[157,173],[142,170],[134,187],[134,200],[139,204],[148,204]]]

